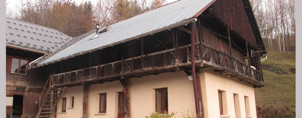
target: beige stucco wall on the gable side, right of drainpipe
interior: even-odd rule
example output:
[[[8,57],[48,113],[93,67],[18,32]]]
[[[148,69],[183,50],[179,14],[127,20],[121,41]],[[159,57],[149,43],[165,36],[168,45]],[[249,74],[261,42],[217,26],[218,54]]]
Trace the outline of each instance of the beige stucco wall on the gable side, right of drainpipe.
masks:
[[[240,107],[239,110],[241,118],[246,117],[244,96],[249,97],[250,116],[253,118],[257,117],[253,85],[239,81],[236,78],[231,78],[230,76],[219,74],[211,69],[201,69],[200,80],[205,118],[217,118],[220,115],[218,90],[223,91],[224,115],[230,115],[230,118],[240,117],[235,115],[233,96],[233,94],[238,94],[239,105],[238,102],[236,102],[236,106]],[[236,107],[236,109],[237,108],[238,107]],[[238,115],[239,113],[237,112],[236,114]]]

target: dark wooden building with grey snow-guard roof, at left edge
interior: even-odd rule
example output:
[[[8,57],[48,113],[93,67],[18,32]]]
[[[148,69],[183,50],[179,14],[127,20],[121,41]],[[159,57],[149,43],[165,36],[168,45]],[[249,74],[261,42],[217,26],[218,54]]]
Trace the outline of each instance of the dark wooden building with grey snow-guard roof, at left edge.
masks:
[[[33,118],[45,85],[45,73],[26,66],[58,49],[72,37],[58,30],[6,18],[7,117]]]

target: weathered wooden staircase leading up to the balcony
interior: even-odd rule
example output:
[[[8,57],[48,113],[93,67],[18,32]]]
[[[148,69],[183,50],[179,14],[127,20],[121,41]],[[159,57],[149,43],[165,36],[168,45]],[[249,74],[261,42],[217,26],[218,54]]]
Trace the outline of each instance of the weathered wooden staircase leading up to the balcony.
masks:
[[[48,89],[36,118],[51,118],[65,88]]]

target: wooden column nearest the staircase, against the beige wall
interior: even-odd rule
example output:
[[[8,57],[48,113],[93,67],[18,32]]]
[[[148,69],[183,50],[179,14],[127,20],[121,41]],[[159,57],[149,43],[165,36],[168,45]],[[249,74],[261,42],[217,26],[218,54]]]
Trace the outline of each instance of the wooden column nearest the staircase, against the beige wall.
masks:
[[[82,116],[82,118],[88,118],[88,88],[89,88],[89,85],[83,86],[83,116]]]

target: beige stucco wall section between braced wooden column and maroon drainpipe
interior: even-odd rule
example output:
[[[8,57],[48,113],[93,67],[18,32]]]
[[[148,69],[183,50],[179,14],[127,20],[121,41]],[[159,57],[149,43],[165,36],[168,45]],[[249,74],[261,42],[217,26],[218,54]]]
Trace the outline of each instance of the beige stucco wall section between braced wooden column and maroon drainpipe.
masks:
[[[131,116],[145,118],[155,112],[155,89],[168,88],[168,110],[178,111],[176,118],[190,109],[195,112],[193,82],[184,71],[166,72],[130,79]]]

